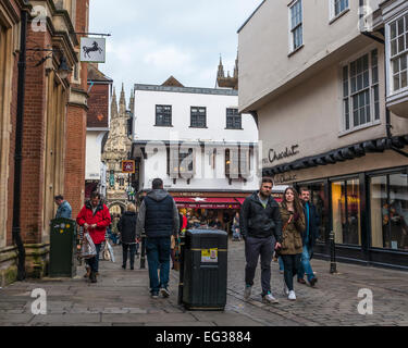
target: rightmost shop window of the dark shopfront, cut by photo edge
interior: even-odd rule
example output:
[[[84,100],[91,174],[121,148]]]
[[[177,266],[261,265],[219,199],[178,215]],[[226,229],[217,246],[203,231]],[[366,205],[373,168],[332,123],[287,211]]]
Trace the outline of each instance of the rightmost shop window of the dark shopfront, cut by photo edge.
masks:
[[[408,250],[408,178],[398,173],[370,179],[371,246]]]

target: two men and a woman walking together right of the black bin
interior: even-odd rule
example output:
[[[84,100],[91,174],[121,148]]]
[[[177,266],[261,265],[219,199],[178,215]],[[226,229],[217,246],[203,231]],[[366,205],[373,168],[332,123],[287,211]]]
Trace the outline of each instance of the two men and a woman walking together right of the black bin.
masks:
[[[317,277],[310,265],[312,247],[318,237],[319,219],[310,202],[310,191],[301,188],[301,200],[295,188],[287,187],[281,204],[272,198],[273,181],[264,177],[260,190],[248,197],[240,211],[240,228],[245,240],[245,290],[251,295],[259,257],[261,259],[262,301],[277,303],[271,291],[271,261],[274,250],[284,269],[284,293],[296,300],[293,278],[307,274],[311,286]],[[306,283],[306,282],[305,282]]]

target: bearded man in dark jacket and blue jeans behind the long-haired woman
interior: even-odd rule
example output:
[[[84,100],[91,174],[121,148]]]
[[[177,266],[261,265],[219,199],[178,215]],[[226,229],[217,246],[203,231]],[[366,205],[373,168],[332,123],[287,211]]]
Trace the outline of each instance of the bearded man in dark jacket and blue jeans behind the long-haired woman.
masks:
[[[300,188],[300,201],[304,207],[306,229],[302,236],[302,252],[300,257],[300,270],[297,274],[298,283],[306,284],[305,273],[310,286],[314,286],[318,278],[314,276],[310,260],[313,257],[313,247],[319,237],[320,217],[316,207],[310,202],[310,190],[307,187]]]

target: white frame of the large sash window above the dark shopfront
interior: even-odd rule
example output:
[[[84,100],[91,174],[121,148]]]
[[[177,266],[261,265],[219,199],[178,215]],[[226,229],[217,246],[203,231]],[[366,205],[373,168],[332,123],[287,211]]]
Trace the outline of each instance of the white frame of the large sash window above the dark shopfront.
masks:
[[[376,70],[378,70],[378,79],[376,83],[373,83],[373,65],[372,65],[372,52],[376,49],[378,51],[378,62],[376,62]],[[369,87],[363,88],[359,90],[358,92],[356,91],[355,94],[351,92],[351,80],[350,80],[350,64],[353,62],[356,62],[360,58],[364,57],[368,54],[369,57]],[[343,70],[344,67],[348,67],[348,117],[349,117],[349,128],[346,129],[346,112],[345,112],[345,97],[344,97],[344,79],[343,79]],[[376,46],[370,46],[368,49],[364,51],[361,51],[351,58],[349,58],[347,61],[342,62],[341,64],[341,72],[339,72],[339,90],[341,90],[341,114],[342,114],[342,130],[339,132],[339,136],[360,130],[367,127],[371,127],[373,125],[381,124],[381,92],[380,92],[380,50]],[[374,87],[378,87],[379,89],[379,119],[375,119],[375,101],[374,101]],[[354,113],[353,113],[353,96],[360,94],[362,90],[368,89],[370,91],[370,122],[366,122],[363,124],[359,124],[357,126],[354,125]]]

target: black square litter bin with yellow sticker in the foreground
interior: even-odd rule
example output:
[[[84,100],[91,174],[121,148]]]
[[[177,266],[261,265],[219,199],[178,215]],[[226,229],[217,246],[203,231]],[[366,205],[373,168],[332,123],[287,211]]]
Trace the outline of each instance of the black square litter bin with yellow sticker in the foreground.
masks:
[[[188,310],[222,311],[226,304],[227,233],[189,229],[182,246],[180,301]]]

